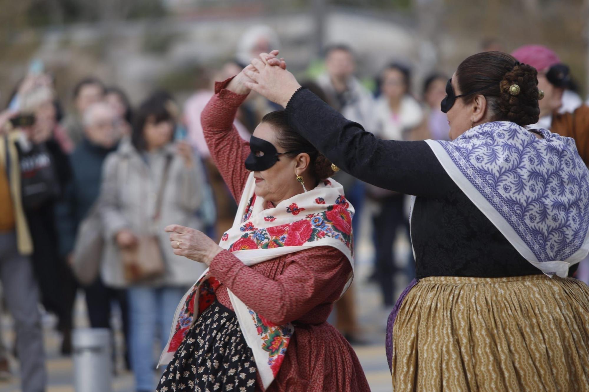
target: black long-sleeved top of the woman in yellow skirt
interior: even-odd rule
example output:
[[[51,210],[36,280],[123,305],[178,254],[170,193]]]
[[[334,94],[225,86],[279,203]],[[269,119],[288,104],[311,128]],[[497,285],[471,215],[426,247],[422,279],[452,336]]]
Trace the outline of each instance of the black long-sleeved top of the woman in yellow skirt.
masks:
[[[458,188],[425,141],[375,138],[305,89],[293,95],[286,112],[290,124],[342,170],[419,196],[411,220],[416,277],[541,274]]]

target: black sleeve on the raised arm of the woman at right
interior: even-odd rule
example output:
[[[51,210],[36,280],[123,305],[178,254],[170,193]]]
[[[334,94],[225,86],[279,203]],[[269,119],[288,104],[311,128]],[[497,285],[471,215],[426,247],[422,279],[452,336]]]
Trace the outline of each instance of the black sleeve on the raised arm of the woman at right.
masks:
[[[444,197],[456,187],[425,141],[376,138],[307,89],[286,106],[290,124],[340,169],[391,191]]]

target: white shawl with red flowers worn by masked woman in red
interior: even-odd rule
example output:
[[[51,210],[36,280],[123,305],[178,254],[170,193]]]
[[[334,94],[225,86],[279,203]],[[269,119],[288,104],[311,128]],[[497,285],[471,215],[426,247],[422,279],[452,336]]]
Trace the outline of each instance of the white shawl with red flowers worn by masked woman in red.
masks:
[[[343,195],[343,187],[331,179],[308,192],[264,209],[262,198],[254,194],[253,173],[241,195],[233,227],[221,239],[220,246],[231,251],[245,265],[255,265],[285,254],[316,246],[330,246],[348,257],[353,268],[352,217],[354,210]],[[343,295],[352,283],[348,283]],[[209,270],[188,290],[176,309],[170,340],[160,358],[160,365],[174,357],[190,326],[214,300],[219,286]],[[272,384],[284,360],[292,324],[276,325],[247,307],[229,291],[247,345],[252,349],[264,389]],[[195,306],[198,304],[198,306]],[[196,308],[196,311],[195,311]]]

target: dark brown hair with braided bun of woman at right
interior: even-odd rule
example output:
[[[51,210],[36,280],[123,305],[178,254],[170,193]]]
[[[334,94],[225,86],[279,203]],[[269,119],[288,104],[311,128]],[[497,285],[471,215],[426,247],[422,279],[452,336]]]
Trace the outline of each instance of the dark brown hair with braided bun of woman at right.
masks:
[[[465,103],[479,94],[487,99],[493,121],[511,121],[530,125],[538,122],[538,72],[503,52],[482,52],[466,58],[456,69],[456,81]],[[509,94],[512,84],[519,86],[518,95]],[[469,94],[470,91],[473,91]],[[458,93],[456,93],[458,94]]]

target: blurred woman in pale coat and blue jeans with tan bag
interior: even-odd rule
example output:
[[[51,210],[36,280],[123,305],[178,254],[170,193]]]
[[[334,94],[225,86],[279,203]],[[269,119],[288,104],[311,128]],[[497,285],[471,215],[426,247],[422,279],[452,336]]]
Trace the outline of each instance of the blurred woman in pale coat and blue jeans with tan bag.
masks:
[[[167,93],[137,109],[130,140],[104,164],[100,214],[106,240],[101,277],[127,288],[129,350],[135,390],[153,391],[153,337],[163,347],[182,295],[204,267],[169,247],[164,227],[175,222],[201,228],[196,212],[206,181],[190,145],[174,143],[178,108]],[[184,138],[183,131],[177,132]]]

